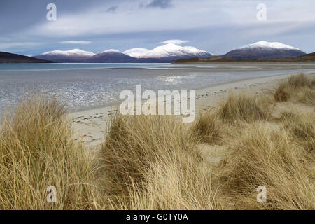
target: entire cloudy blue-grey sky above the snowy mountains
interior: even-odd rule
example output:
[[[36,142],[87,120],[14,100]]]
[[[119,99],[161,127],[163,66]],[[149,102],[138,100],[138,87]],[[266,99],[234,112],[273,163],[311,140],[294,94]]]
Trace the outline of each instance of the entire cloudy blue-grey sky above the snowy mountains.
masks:
[[[50,3],[56,20],[47,19]],[[1,0],[0,51],[97,53],[176,43],[221,55],[263,40],[310,53],[314,12],[314,0]]]

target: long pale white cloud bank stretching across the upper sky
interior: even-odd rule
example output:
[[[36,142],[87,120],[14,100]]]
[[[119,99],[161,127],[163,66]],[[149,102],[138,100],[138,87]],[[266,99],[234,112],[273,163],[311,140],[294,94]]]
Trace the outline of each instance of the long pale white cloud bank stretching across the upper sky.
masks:
[[[136,0],[135,0],[136,1]],[[137,0],[143,1],[143,0]],[[242,4],[239,3],[242,2]],[[49,36],[57,38],[77,38],[78,36],[93,36],[107,34],[136,33],[149,31],[183,31],[189,29],[204,29],[211,27],[256,26],[258,21],[256,8],[260,0],[225,0],[225,1],[188,1],[174,0],[174,7],[167,10],[139,8],[134,1],[121,1],[117,13],[104,13],[108,5],[99,4],[97,8],[87,8],[80,13],[59,15],[55,22],[43,22],[31,29],[29,35]],[[314,0],[268,1],[267,21],[264,24],[301,24],[314,22]],[[287,2],[287,1],[286,1]],[[285,7],[285,8],[283,8]],[[289,9],[287,9],[290,8]],[[188,10],[189,9],[189,10]],[[290,11],[290,13],[288,13]],[[158,20],[157,20],[158,18]],[[265,31],[265,32],[273,32]]]

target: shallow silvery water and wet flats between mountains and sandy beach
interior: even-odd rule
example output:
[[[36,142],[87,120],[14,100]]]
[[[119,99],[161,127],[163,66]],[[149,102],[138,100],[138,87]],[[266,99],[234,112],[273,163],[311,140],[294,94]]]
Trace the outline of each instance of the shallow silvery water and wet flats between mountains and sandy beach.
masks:
[[[0,111],[30,92],[57,94],[69,111],[109,106],[123,90],[197,90],[315,64],[0,64]]]

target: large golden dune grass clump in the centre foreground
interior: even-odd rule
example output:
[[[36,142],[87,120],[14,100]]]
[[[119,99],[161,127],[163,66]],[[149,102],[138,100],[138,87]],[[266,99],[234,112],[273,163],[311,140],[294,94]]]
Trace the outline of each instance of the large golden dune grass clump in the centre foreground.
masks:
[[[117,116],[100,151],[113,208],[217,209],[195,137],[169,116]]]

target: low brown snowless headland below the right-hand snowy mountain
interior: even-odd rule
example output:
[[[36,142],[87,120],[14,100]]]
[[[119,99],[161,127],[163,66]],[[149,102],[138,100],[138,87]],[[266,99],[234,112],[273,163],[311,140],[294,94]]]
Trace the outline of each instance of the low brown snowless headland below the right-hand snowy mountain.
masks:
[[[226,57],[192,57],[188,59],[178,59],[173,64],[199,64],[199,63],[216,63],[216,62],[315,62],[315,52],[298,57],[274,58],[274,59],[232,59]]]

